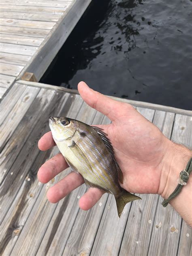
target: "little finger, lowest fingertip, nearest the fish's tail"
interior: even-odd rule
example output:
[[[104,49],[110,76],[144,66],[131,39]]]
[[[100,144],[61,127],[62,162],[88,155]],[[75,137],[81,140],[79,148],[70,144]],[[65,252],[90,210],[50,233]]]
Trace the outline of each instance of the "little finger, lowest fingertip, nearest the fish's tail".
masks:
[[[89,188],[89,190],[79,200],[79,207],[87,211],[92,208],[105,192],[98,188]]]

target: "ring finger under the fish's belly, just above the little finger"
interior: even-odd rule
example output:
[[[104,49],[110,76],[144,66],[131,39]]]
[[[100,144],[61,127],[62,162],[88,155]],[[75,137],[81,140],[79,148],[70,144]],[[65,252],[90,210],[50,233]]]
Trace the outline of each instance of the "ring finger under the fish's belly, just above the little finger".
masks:
[[[57,203],[83,183],[84,179],[81,174],[71,172],[48,190],[47,198],[51,203]]]

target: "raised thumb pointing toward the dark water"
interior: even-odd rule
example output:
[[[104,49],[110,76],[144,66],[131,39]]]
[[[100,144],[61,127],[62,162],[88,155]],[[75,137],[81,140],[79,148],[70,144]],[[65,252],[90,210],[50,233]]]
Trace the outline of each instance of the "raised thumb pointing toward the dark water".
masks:
[[[125,109],[125,103],[112,100],[111,98],[90,89],[85,82],[80,82],[78,84],[78,91],[83,100],[90,107],[98,110],[104,115],[107,115],[111,121],[114,121],[117,118],[117,115],[122,115],[123,111],[126,110],[127,112],[128,107],[132,108],[131,105],[126,104]]]

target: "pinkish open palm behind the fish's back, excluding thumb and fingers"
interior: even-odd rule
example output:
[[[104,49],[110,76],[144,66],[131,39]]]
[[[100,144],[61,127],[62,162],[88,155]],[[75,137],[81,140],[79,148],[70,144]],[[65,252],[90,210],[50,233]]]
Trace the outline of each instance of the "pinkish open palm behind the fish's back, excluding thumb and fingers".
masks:
[[[122,186],[130,192],[157,193],[160,172],[156,169],[164,155],[164,136],[129,105],[125,105],[124,111],[126,115],[119,115],[112,124],[102,126],[124,173]]]

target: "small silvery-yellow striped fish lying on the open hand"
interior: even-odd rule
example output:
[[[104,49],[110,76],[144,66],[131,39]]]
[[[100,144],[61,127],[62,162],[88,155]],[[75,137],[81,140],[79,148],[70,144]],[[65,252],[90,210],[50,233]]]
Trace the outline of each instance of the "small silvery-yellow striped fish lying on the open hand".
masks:
[[[115,196],[119,218],[127,203],[141,199],[120,186],[123,173],[103,129],[68,117],[50,117],[49,127],[66,162],[83,176],[87,188],[99,188]]]

